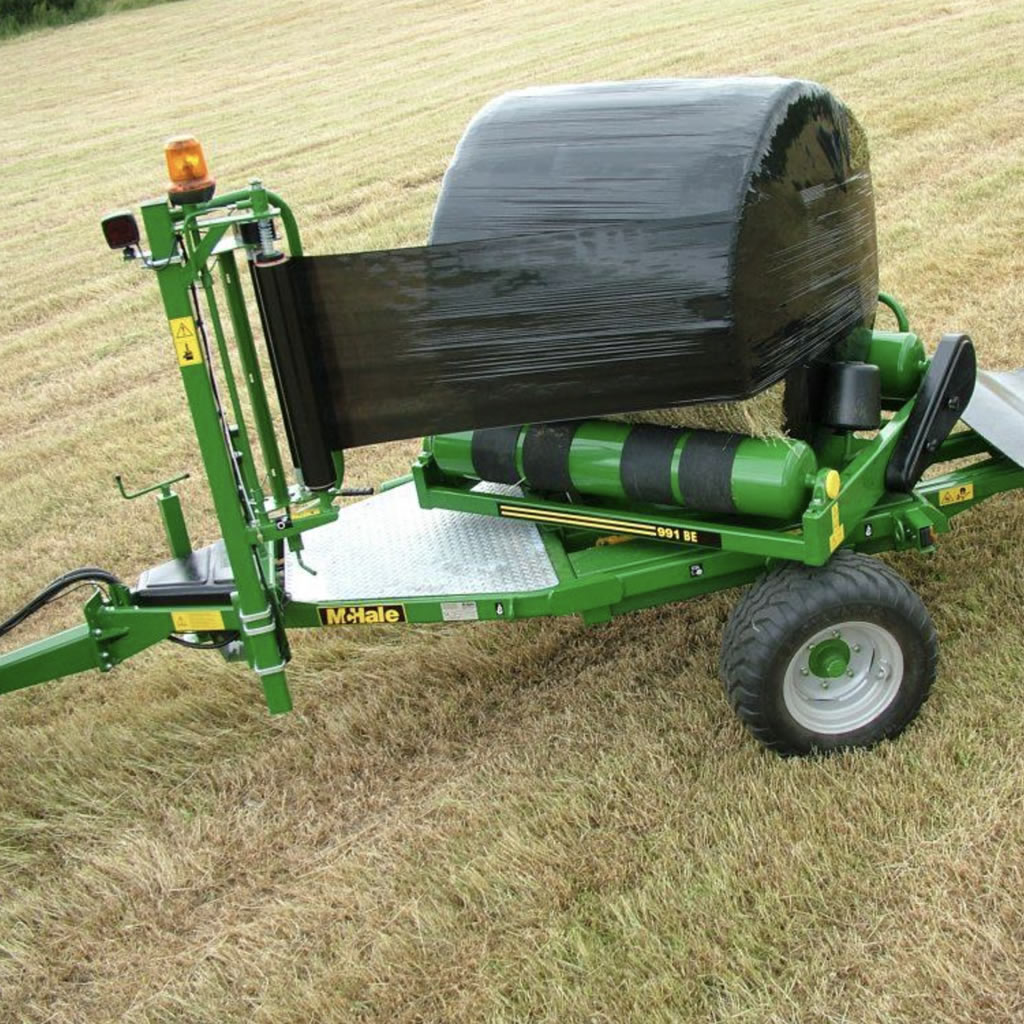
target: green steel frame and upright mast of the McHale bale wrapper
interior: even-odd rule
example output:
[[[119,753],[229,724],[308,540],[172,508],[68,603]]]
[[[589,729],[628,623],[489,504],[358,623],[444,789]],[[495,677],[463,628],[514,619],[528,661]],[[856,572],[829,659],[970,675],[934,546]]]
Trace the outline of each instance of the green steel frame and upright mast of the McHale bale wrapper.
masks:
[[[0,655],[0,693],[88,669],[109,672],[168,637],[188,635],[244,658],[259,677],[269,710],[285,712],[291,708],[287,631],[353,621],[333,607],[290,601],[284,592],[286,548],[301,565],[302,535],[338,517],[344,461],[335,454],[337,479],[315,494],[303,485],[301,473],[286,471],[275,401],[264,384],[237,258],[240,250],[247,259],[276,257],[275,222],[283,225],[288,251],[300,255],[298,226],[288,205],[259,181],[205,203],[148,202],[142,221],[150,251],[137,255],[157,275],[169,350],[177,359],[230,563],[230,592],[202,603],[143,605],[127,586],[97,589],[84,606],[83,625]],[[822,565],[841,546],[864,552],[931,550],[954,515],[1024,486],[1024,469],[966,430],[943,441],[932,461],[982,461],[952,468],[910,493],[887,492],[886,469],[914,406],[924,349],[899,304],[886,295],[881,301],[896,314],[898,331],[871,332],[854,341],[880,366],[885,390],[900,397],[889,401],[891,416],[873,435],[827,435],[815,442],[819,468],[808,481],[810,499],[802,514],[781,521],[716,518],[610,499],[569,504],[528,494],[499,496],[446,476],[428,441],[410,477],[385,486],[411,481],[427,509],[537,523],[557,583],[523,593],[380,594],[346,602],[362,609],[354,621],[439,623],[442,605],[464,600],[475,604],[475,617],[482,621],[579,614],[594,624],[749,583],[775,560]],[[171,489],[176,479],[146,490],[160,490],[171,557],[185,561],[193,547]],[[122,494],[138,497],[123,486]],[[394,602],[400,602],[400,613],[389,611]]]

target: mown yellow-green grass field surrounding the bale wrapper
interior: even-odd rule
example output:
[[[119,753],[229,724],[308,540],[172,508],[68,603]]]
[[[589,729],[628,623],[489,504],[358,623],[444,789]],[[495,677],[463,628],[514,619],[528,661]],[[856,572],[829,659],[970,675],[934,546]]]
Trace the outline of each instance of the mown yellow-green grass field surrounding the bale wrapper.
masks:
[[[816,79],[872,142],[883,286],[930,343],[967,330],[1010,367],[1022,41],[1020,0],[182,0],[0,45],[0,609],[166,557],[115,472],[191,470],[194,539],[216,536],[154,282],[98,229],[161,190],[168,134],[338,252],[423,242],[501,91]],[[352,453],[347,482],[416,451]],[[4,697],[0,1019],[1020,1021],[1022,532],[1004,497],[895,560],[943,658],[865,755],[746,736],[716,678],[734,595],[298,637],[274,720],[251,674],[170,645]]]

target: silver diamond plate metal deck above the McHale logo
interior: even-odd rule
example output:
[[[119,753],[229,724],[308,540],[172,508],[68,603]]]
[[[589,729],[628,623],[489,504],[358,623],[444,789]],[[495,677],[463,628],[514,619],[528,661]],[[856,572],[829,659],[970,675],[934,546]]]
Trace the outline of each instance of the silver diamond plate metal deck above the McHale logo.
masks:
[[[520,494],[518,487],[485,486]],[[335,522],[302,540],[302,560],[316,575],[289,554],[285,589],[293,601],[309,604],[503,594],[558,583],[532,523],[422,509],[412,483],[346,506]]]

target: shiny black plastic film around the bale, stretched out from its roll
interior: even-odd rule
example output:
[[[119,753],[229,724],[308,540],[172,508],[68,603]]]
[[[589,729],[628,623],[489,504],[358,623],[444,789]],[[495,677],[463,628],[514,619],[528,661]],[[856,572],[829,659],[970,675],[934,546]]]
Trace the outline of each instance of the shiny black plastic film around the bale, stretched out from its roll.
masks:
[[[745,398],[873,316],[867,145],[810,82],[526,89],[467,128],[430,245],[256,273],[300,297],[271,344],[333,447]]]

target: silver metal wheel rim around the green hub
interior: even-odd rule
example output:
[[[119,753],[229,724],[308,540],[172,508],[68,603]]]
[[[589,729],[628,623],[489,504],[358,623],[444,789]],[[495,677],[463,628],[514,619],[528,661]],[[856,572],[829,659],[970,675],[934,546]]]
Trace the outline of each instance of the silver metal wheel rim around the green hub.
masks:
[[[841,673],[820,672],[814,652],[822,644],[846,645]],[[808,637],[790,659],[782,699],[805,729],[834,736],[873,722],[896,698],[902,681],[903,651],[887,629],[874,623],[837,623]]]

